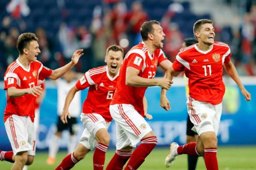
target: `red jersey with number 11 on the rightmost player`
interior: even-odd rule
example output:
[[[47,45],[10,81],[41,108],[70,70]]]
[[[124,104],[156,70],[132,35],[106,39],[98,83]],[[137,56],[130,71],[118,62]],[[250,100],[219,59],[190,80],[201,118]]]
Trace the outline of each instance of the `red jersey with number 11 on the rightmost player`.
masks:
[[[184,71],[189,78],[189,95],[213,105],[222,102],[225,86],[222,81],[223,63],[230,62],[230,48],[223,42],[214,42],[208,51],[191,45],[181,51],[172,67]]]

